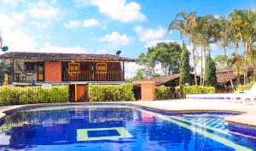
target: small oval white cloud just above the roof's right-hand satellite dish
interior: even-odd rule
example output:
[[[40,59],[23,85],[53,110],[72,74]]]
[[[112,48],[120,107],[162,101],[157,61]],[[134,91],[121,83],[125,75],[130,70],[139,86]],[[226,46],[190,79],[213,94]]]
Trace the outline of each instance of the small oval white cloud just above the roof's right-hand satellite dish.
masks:
[[[125,34],[120,35],[117,31],[113,31],[112,33],[106,34],[105,36],[100,38],[100,41],[108,42],[116,47],[129,45],[134,40],[135,39],[133,37],[127,36]]]

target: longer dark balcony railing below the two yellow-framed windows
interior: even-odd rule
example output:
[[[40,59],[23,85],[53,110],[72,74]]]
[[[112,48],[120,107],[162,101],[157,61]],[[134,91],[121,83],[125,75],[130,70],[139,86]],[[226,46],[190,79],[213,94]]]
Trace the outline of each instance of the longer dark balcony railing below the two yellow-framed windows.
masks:
[[[122,70],[65,70],[62,81],[124,81]]]

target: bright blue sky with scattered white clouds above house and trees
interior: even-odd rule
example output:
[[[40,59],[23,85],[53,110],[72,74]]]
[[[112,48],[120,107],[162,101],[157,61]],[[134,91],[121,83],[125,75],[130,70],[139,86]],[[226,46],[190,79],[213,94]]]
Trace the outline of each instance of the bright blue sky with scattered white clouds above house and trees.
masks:
[[[10,51],[115,53],[136,58],[156,42],[182,42],[166,27],[178,12],[225,16],[256,0],[0,0],[3,44]],[[189,46],[188,46],[189,47]],[[212,46],[214,55],[222,53]]]

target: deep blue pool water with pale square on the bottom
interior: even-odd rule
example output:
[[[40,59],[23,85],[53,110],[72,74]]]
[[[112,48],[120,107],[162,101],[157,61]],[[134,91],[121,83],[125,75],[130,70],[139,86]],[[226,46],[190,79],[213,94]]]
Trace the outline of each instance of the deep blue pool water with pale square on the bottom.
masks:
[[[162,115],[125,106],[29,109],[2,121],[0,150],[256,150],[256,138],[230,131],[226,115]]]

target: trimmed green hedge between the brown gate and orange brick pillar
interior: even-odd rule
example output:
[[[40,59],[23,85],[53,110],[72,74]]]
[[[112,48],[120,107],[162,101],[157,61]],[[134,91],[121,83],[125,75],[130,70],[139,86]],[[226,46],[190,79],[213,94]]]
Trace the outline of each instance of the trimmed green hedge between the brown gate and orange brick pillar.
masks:
[[[135,101],[131,83],[125,85],[89,85],[90,102]]]

